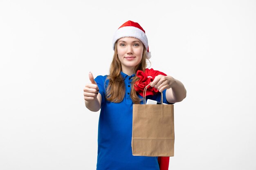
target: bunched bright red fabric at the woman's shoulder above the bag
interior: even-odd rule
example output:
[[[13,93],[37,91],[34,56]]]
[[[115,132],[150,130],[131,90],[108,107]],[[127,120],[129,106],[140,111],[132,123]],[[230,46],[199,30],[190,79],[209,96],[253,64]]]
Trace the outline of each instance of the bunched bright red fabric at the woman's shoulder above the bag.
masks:
[[[139,93],[139,95],[143,96],[144,88],[150,83],[153,82],[157,75],[166,75],[160,71],[154,70],[153,68],[146,68],[145,73],[141,70],[137,71],[137,77],[139,77],[139,81],[135,82],[134,89]],[[157,88],[148,86],[147,93],[148,95],[155,95],[158,93]]]

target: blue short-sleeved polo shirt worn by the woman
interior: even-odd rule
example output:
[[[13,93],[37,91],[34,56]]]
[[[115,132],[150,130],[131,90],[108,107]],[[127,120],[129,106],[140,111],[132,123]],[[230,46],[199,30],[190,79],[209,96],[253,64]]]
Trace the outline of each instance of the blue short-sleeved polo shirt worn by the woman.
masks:
[[[123,101],[113,103],[106,100],[107,75],[97,76],[94,80],[101,94],[101,112],[98,127],[97,170],[159,170],[157,157],[132,155],[132,99],[130,98],[132,77],[121,72],[126,93]],[[166,100],[163,91],[163,102]],[[142,98],[141,95],[138,95]],[[147,96],[146,99],[161,101],[161,93]],[[141,101],[143,104],[143,101]]]

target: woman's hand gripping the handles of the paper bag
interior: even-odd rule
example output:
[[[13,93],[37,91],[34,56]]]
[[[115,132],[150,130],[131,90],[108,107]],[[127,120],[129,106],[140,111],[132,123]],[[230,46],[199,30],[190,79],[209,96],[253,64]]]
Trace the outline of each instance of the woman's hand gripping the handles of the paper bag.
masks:
[[[176,84],[176,80],[169,75],[157,75],[153,82],[150,83],[151,87],[157,88],[159,92],[163,92],[165,89],[171,88]]]

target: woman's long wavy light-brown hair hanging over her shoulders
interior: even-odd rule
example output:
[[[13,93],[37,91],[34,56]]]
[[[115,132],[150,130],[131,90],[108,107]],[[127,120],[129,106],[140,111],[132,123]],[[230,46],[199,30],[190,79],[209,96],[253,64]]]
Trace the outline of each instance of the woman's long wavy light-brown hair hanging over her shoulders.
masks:
[[[149,61],[149,60],[148,60]],[[150,62],[150,61],[149,61]],[[135,66],[135,77],[132,77],[131,82],[131,92],[130,97],[132,99],[132,102],[134,104],[139,104],[142,100],[137,96],[137,93],[134,89],[134,83],[139,80],[139,77],[137,77],[136,73],[138,70],[145,71],[146,69],[146,48],[144,46],[141,62],[137,66]],[[109,69],[109,75],[106,78],[106,80],[109,80],[108,88],[106,89],[106,100],[114,103],[119,103],[124,99],[125,95],[125,84],[124,84],[124,78],[121,75],[121,62],[117,55],[117,42],[115,43],[115,52],[113,55],[113,60],[110,64]]]

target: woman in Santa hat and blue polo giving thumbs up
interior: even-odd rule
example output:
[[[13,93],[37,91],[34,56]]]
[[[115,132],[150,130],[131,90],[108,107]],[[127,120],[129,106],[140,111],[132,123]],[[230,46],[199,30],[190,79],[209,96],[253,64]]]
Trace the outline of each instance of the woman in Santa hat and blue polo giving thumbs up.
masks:
[[[135,91],[137,71],[146,70],[150,56],[144,29],[132,21],[125,22],[113,38],[114,56],[110,73],[97,76],[89,73],[85,85],[85,106],[94,112],[101,109],[98,129],[97,170],[159,170],[157,157],[133,156],[132,104],[142,104]],[[150,86],[163,93],[163,102],[173,104],[186,97],[183,84],[169,75],[157,75]],[[146,99],[161,100],[161,93]]]

